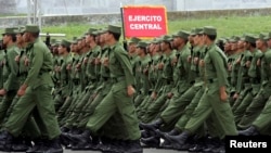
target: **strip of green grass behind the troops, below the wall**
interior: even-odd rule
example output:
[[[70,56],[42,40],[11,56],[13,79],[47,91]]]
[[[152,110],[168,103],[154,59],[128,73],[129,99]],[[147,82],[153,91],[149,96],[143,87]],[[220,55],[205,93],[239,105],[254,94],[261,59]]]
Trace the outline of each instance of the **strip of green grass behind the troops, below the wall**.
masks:
[[[203,27],[206,25],[215,26],[218,30],[218,37],[242,36],[243,34],[259,34],[271,31],[270,16],[229,16],[218,18],[184,20],[168,22],[168,31],[173,34],[180,29],[191,30],[193,27]],[[119,23],[120,24],[120,23]],[[89,27],[105,27],[106,25],[87,25],[87,24],[68,24],[65,26],[43,27],[44,33],[66,34],[67,39],[74,36],[80,37]]]

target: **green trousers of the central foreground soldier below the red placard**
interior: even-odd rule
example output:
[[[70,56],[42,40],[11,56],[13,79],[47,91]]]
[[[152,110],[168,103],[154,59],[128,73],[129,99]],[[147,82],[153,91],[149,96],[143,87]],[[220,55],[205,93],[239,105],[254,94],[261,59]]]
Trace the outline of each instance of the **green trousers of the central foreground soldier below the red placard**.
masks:
[[[132,97],[127,95],[125,81],[113,85],[108,94],[90,116],[87,128],[92,132],[96,132],[116,112],[120,113],[119,117],[124,120],[124,128],[128,131],[127,139],[138,140],[141,137],[139,120],[132,103]]]

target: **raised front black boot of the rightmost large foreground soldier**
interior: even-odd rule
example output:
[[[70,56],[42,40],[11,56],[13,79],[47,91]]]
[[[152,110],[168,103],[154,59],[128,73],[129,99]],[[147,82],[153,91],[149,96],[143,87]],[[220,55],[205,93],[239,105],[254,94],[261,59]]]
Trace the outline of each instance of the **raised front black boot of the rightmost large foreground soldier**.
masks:
[[[190,133],[188,131],[183,131],[178,136],[170,136],[168,133],[165,135],[165,139],[175,143],[176,145],[183,145],[188,140]]]

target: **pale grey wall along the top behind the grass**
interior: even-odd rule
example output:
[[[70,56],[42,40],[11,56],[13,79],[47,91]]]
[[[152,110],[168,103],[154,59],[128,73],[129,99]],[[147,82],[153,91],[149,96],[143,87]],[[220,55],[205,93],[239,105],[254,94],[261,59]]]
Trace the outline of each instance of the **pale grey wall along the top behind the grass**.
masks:
[[[0,13],[27,14],[36,0],[0,0]],[[120,3],[165,5],[168,11],[271,8],[271,0],[37,0],[42,15],[118,13]]]

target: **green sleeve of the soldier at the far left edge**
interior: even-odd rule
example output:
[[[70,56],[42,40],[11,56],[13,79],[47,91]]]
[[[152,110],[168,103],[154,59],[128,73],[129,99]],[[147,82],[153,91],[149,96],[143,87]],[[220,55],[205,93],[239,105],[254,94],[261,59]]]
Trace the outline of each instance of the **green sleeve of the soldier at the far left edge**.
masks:
[[[15,61],[17,52],[15,50],[8,51],[7,60],[10,68],[10,74],[3,85],[3,88],[5,91],[9,91],[11,87],[13,86],[13,80],[16,79],[17,73],[18,73],[18,65]]]

